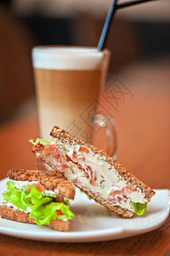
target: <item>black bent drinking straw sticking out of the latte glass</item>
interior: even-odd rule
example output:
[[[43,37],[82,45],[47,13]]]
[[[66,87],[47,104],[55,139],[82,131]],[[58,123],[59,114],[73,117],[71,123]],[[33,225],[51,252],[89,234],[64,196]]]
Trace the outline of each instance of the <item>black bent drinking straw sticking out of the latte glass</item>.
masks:
[[[119,4],[116,3],[117,0],[113,0],[113,2],[111,3],[111,8],[109,9],[107,17],[105,19],[105,24],[104,24],[103,30],[101,32],[101,36],[99,38],[98,50],[102,50],[104,47],[105,38],[106,38],[107,32],[109,31],[109,27],[111,25],[111,20],[113,19],[113,16],[115,15],[116,9],[121,9],[124,7],[132,6],[132,5],[139,4],[139,3],[146,3],[146,2],[150,2],[150,1],[156,1],[156,0],[134,0],[134,1],[119,3]]]

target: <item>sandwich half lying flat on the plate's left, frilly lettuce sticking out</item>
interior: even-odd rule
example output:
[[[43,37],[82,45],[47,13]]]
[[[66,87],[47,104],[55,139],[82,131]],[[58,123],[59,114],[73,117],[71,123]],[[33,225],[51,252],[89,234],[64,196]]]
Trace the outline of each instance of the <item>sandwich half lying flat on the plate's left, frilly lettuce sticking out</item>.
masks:
[[[70,219],[74,218],[69,205],[75,196],[70,180],[54,171],[23,169],[9,169],[7,176],[1,218],[69,230]]]

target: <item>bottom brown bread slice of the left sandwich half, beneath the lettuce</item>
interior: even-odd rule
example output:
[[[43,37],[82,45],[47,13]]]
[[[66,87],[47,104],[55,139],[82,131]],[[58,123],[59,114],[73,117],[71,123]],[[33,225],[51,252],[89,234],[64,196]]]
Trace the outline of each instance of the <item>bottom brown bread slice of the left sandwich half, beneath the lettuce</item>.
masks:
[[[13,207],[0,206],[0,216],[1,218],[7,218],[22,223],[35,224],[34,218],[29,218],[29,213],[20,210],[15,211]],[[47,226],[58,231],[68,231],[70,222],[68,220],[53,219]]]

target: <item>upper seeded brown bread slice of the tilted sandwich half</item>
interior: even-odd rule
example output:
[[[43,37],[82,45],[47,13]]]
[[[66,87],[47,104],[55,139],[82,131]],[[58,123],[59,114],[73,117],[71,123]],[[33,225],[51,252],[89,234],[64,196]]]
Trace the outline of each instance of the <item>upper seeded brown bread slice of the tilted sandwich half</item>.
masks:
[[[139,178],[133,176],[133,174],[131,174],[130,172],[127,172],[127,170],[122,165],[120,165],[116,160],[114,160],[111,157],[111,155],[109,155],[107,152],[99,148],[96,148],[91,144],[82,142],[82,140],[80,140],[79,138],[72,136],[71,134],[60,129],[57,126],[54,126],[54,128],[50,132],[50,136],[59,140],[59,142],[61,143],[69,143],[71,145],[77,143],[78,145],[85,146],[91,149],[94,154],[99,155],[100,158],[106,157],[105,161],[116,169],[116,171],[122,177],[123,180],[125,180],[128,184],[131,184],[133,187],[141,189],[141,192],[144,193],[144,199],[146,201],[150,201],[151,197],[155,195],[155,192],[152,189],[150,189],[148,185],[141,182]]]

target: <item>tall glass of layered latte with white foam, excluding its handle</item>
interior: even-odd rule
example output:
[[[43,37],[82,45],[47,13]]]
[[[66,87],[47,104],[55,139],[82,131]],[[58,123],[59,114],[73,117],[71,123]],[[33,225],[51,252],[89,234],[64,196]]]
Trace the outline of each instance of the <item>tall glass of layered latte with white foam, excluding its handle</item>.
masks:
[[[88,47],[39,46],[32,50],[42,138],[48,138],[57,125],[92,142],[90,106],[105,83],[109,59],[108,50]]]

